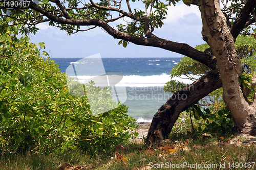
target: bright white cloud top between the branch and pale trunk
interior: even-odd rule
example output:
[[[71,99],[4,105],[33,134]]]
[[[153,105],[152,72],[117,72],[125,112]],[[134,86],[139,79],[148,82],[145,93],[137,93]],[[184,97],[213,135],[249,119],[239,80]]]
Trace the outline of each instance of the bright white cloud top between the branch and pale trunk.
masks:
[[[188,14],[196,14],[196,16],[201,18],[201,14],[197,6],[191,5],[190,7],[187,7],[183,3],[179,3],[176,6],[169,6],[167,14],[166,19],[163,20],[164,23],[176,22],[179,19],[184,19],[184,16]]]

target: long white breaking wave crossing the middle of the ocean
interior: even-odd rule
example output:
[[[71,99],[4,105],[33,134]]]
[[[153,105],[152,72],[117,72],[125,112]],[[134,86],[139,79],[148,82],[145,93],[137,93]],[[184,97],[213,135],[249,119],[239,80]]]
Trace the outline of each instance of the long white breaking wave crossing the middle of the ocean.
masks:
[[[83,83],[86,80],[94,78],[94,76],[77,76],[79,82]],[[185,76],[182,76],[185,78]],[[186,84],[191,84],[193,81],[189,79],[182,79],[174,77],[172,80],[178,80]],[[76,80],[76,78],[74,77]],[[170,76],[167,74],[153,75],[153,76],[123,76],[122,80],[115,86],[126,86],[126,87],[150,87],[150,86],[164,86],[168,81],[170,81]]]

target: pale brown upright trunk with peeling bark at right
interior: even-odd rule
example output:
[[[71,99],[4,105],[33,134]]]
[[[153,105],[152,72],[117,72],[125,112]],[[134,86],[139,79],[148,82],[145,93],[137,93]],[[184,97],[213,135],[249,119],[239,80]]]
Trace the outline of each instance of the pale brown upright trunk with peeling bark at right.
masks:
[[[217,59],[222,79],[223,100],[234,120],[233,132],[255,135],[255,105],[247,103],[240,88],[241,62],[219,0],[201,0],[199,9],[203,21],[203,39],[209,44]]]

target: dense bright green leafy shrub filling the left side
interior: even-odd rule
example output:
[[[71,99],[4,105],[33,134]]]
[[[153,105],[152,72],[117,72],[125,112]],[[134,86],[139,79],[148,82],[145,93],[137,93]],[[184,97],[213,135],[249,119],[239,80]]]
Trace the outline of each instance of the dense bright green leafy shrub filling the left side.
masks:
[[[125,105],[92,115],[87,97],[71,96],[66,75],[50,58],[40,56],[45,44],[30,43],[27,36],[18,39],[17,32],[15,27],[0,30],[2,152],[82,147],[96,154],[107,152],[102,146],[110,150],[136,134],[129,134],[136,125],[135,119],[126,114]]]

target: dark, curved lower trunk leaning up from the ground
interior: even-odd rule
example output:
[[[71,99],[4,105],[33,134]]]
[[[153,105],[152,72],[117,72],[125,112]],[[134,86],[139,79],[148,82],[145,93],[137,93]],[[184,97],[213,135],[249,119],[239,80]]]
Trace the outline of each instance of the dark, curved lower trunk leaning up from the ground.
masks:
[[[165,105],[158,109],[148,130],[146,143],[167,138],[180,113],[196,104],[210,92],[222,86],[219,71],[211,70],[193,84],[173,94]]]

